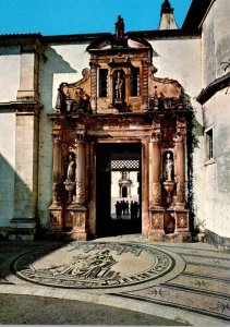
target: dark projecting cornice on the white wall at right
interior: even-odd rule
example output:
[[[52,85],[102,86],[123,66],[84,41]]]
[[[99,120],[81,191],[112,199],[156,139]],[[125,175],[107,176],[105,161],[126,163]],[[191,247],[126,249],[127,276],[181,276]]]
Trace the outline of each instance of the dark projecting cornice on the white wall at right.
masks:
[[[213,83],[210,83],[206,88],[203,88],[199,95],[197,96],[196,100],[204,105],[217,92],[221,90],[230,86],[230,72],[226,75],[216,78]]]

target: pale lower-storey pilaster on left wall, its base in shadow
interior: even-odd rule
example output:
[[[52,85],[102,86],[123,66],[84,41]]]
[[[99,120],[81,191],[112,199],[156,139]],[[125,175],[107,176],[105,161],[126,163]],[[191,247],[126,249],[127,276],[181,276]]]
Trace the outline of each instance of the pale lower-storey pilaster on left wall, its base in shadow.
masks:
[[[27,104],[28,105],[28,104]],[[14,218],[10,239],[34,239],[38,182],[39,106],[16,112]]]

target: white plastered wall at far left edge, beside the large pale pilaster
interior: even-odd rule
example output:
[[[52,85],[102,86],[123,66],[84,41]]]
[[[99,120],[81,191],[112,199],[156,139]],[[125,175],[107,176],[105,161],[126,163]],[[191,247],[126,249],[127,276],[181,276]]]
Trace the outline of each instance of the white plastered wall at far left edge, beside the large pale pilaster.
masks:
[[[0,47],[0,102],[16,100],[20,86],[20,47]],[[15,113],[8,107],[0,112],[0,227],[8,227],[14,215]]]

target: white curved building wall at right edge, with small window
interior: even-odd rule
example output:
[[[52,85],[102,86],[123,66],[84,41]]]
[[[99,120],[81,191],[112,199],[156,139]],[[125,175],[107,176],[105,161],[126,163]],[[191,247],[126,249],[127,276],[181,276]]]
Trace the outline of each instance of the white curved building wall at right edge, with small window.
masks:
[[[203,88],[230,72],[230,1],[215,1],[203,23]],[[223,64],[222,62],[227,62]],[[229,62],[230,63],[230,62]],[[206,228],[230,238],[230,93],[217,92],[204,106],[204,128],[213,126],[214,160],[205,165]],[[205,140],[204,140],[205,142]]]

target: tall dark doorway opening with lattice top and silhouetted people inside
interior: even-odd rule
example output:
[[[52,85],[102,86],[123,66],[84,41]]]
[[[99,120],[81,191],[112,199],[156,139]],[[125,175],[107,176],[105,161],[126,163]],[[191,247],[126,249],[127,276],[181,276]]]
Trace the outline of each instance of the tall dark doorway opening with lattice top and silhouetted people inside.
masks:
[[[142,144],[97,145],[97,235],[142,232]]]

